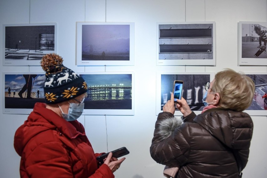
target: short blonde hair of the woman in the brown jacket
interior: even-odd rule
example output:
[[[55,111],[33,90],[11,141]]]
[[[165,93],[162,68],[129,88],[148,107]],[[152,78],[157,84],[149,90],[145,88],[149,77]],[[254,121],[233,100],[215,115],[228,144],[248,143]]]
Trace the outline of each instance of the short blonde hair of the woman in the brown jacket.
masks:
[[[245,74],[225,69],[215,75],[212,91],[220,94],[220,107],[243,111],[251,105],[255,84]]]

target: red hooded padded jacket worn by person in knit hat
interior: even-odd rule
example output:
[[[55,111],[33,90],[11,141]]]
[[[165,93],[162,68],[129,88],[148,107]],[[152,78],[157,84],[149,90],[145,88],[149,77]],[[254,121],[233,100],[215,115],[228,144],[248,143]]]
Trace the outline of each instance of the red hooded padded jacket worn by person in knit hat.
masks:
[[[114,178],[106,164],[98,167],[101,154],[94,153],[81,123],[65,121],[43,103],[16,131],[14,147],[23,178]]]

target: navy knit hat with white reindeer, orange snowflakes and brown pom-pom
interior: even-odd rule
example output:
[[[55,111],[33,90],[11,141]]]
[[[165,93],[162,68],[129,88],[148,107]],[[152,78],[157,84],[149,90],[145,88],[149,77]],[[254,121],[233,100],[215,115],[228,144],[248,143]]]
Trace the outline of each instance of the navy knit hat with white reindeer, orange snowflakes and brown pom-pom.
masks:
[[[63,64],[57,54],[46,54],[41,60],[45,73],[44,99],[47,104],[67,101],[87,92],[87,84]]]

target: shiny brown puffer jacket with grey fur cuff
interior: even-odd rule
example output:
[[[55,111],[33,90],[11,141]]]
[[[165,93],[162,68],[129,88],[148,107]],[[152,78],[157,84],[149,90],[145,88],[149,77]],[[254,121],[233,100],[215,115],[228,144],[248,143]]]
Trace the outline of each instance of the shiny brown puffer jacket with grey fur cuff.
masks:
[[[173,114],[159,114],[150,147],[151,157],[157,163],[180,167],[177,178],[237,178],[238,165],[232,150],[237,151],[243,170],[248,162],[253,131],[250,116],[214,108],[197,116],[192,112],[183,119],[184,124],[174,130],[177,119]],[[170,127],[166,127],[166,123]]]

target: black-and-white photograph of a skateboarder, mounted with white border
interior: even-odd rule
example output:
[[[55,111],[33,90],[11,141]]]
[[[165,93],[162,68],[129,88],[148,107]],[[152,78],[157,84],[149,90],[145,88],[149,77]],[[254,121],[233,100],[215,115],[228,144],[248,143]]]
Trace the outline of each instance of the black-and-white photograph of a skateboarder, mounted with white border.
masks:
[[[238,65],[267,65],[267,22],[238,23]]]

